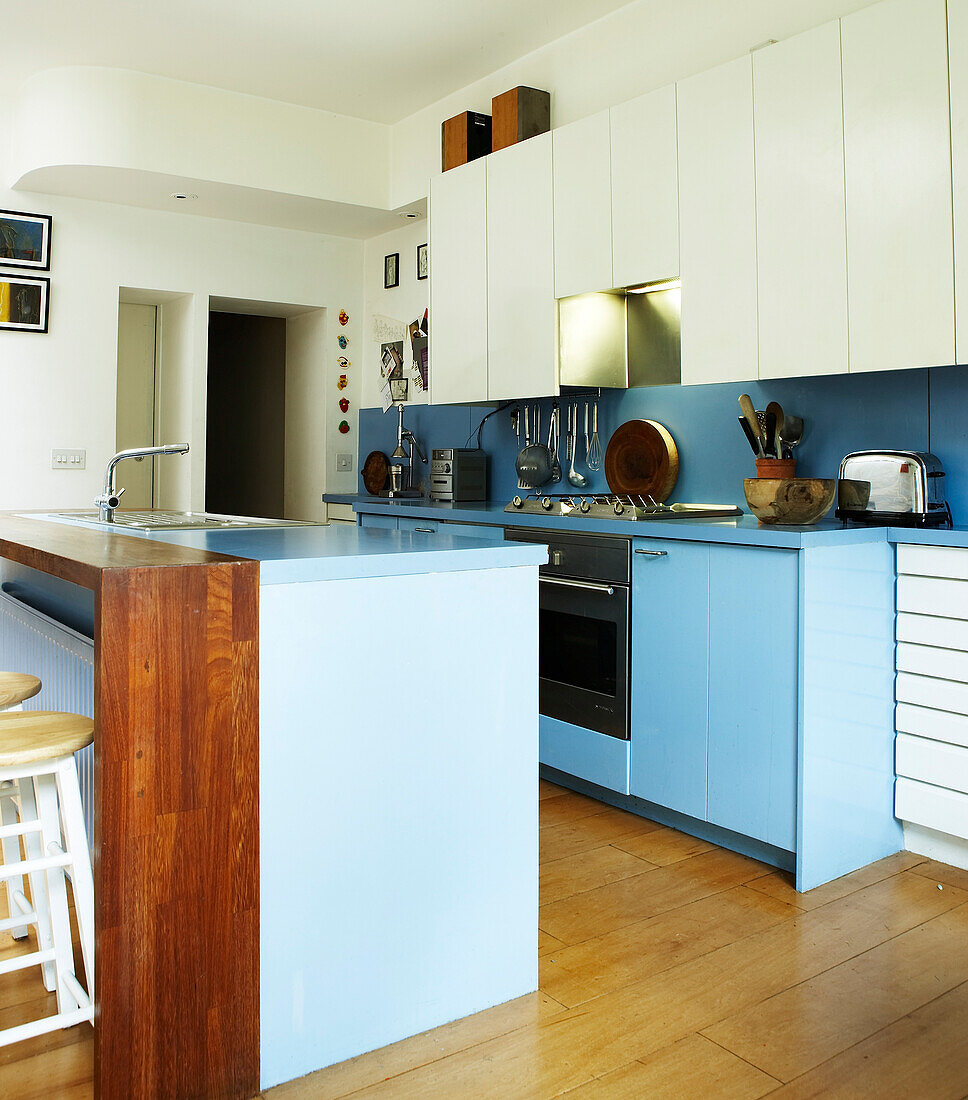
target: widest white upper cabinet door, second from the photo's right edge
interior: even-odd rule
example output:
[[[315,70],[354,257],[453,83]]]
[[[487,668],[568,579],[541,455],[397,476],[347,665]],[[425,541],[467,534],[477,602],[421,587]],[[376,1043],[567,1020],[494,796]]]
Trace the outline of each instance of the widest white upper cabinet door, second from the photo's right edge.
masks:
[[[842,21],[850,370],[955,361],[945,0]]]

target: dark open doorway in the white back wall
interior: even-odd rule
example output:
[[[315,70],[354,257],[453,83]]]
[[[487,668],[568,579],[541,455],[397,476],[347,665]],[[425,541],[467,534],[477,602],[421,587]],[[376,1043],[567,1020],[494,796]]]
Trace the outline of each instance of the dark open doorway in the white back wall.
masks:
[[[211,311],[205,509],[285,518],[286,320]]]

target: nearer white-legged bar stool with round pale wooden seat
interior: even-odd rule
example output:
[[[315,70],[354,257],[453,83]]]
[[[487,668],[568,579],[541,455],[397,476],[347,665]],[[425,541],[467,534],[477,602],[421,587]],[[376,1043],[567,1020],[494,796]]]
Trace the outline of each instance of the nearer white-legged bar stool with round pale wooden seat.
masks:
[[[31,884],[33,904],[21,889],[8,890],[11,915],[0,932],[23,924],[37,930],[37,950],[0,960],[3,975],[32,966],[53,966],[57,1012],[0,1031],[0,1047],[58,1027],[94,1021],[95,893],[74,754],[94,740],[94,722],[80,714],[32,711],[0,714],[0,782],[36,791],[36,814],[26,807],[19,822],[0,826],[0,838],[24,839],[25,859],[0,865],[0,879]],[[19,854],[18,854],[19,855]],[[4,856],[6,860],[6,856]],[[74,887],[85,990],[74,972],[66,873]],[[18,912],[14,914],[13,910]],[[46,981],[45,981],[46,985]]]

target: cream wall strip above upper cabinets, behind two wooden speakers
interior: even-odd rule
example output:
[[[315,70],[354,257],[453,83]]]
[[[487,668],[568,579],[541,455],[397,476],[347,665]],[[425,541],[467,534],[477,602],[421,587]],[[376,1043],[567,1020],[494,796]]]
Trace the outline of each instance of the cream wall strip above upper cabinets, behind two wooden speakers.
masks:
[[[427,195],[440,172],[440,124],[527,85],[551,92],[561,127],[673,80],[868,7],[872,0],[636,0],[411,114],[392,131],[391,207]]]

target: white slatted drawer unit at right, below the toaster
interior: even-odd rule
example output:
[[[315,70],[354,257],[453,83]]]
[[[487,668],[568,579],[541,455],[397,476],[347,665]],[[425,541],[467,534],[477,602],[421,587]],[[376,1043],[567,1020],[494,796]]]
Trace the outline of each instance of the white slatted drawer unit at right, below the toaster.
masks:
[[[968,550],[898,547],[894,812],[968,839]]]

